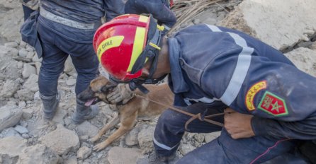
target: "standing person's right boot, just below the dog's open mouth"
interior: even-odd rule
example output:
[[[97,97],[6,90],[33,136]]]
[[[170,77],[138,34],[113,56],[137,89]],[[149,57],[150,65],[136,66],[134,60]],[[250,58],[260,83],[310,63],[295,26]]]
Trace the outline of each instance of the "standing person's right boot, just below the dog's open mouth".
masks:
[[[92,119],[98,115],[98,105],[86,106],[85,102],[77,98],[77,107],[74,115],[72,116],[72,121],[74,124],[81,124],[84,120]]]

